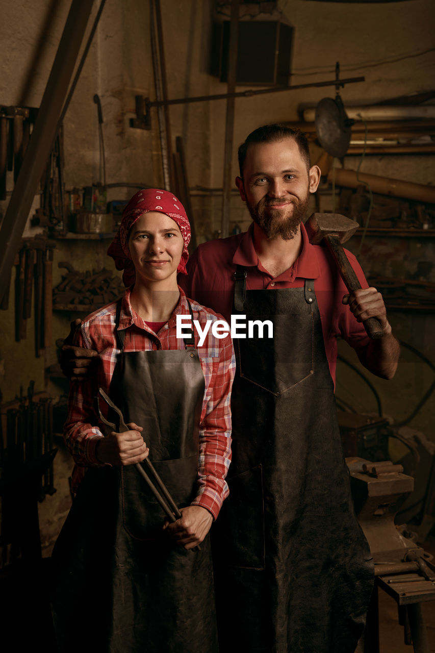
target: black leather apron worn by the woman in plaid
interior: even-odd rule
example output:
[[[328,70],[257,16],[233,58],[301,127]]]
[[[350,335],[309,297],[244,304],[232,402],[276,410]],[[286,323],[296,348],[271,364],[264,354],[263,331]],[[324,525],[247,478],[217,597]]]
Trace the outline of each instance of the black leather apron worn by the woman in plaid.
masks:
[[[143,426],[150,460],[179,507],[196,496],[204,375],[193,334],[184,350],[123,351],[110,398]],[[146,469],[146,468],[145,468]],[[208,537],[186,551],[134,466],[89,468],[53,552],[59,650],[215,653]]]

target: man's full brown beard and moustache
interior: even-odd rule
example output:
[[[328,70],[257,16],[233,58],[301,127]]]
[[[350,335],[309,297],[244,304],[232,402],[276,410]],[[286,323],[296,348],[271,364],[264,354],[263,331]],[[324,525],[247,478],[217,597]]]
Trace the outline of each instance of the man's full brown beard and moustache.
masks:
[[[274,209],[274,204],[282,204],[282,200],[266,200],[263,198],[256,206],[246,202],[253,221],[263,229],[267,238],[280,236],[283,240],[292,240],[298,232],[299,225],[305,217],[310,202],[310,192],[306,197],[291,200],[288,208]]]

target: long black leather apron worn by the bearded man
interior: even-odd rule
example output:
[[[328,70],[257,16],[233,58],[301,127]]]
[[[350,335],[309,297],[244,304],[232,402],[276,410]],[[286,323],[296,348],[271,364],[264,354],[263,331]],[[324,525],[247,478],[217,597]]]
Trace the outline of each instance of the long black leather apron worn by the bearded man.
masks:
[[[213,541],[220,650],[351,653],[373,571],[314,285],[246,291],[244,269],[235,277],[235,311],[274,330],[234,340],[230,495]]]

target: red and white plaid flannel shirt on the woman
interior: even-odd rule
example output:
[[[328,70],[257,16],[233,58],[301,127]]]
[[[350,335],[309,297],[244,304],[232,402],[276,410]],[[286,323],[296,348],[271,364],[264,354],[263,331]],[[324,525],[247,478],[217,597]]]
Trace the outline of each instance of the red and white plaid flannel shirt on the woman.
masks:
[[[125,330],[124,351],[149,351],[152,349],[184,349],[184,340],[176,337],[176,315],[189,315],[184,291],[168,323],[155,334],[144,320],[135,313],[130,304],[130,291],[123,296],[119,329]],[[189,300],[193,318],[201,328],[207,320],[216,321],[220,315]],[[78,328],[74,344],[99,353],[97,372],[86,381],[71,383],[69,412],[64,426],[65,442],[76,467],[72,474],[73,489],[78,486],[89,466],[101,466],[95,456],[95,445],[103,437],[105,427],[99,421],[93,406],[98,387],[110,394],[110,381],[114,373],[117,355],[120,353],[115,336],[116,303],[91,313]],[[230,396],[233,385],[235,359],[231,338],[217,339],[208,330],[204,344],[199,347],[199,335],[195,332],[195,344],[205,379],[199,431],[199,461],[197,496],[192,505],[201,505],[216,518],[222,502],[228,494],[225,476],[231,461],[231,408]],[[176,383],[176,379],[174,379]]]

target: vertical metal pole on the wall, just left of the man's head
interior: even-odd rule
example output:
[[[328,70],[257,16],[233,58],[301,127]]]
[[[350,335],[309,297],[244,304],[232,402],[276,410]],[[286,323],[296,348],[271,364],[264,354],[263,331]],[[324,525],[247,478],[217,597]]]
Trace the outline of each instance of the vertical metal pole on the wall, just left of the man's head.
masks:
[[[239,0],[231,2],[231,22],[228,58],[228,93],[234,93],[237,73],[237,42],[238,42],[238,4]],[[233,161],[234,107],[236,100],[229,95],[227,99],[227,117],[225,120],[225,151],[223,155],[223,194],[221,238],[229,235],[229,213],[231,200],[231,162]]]

